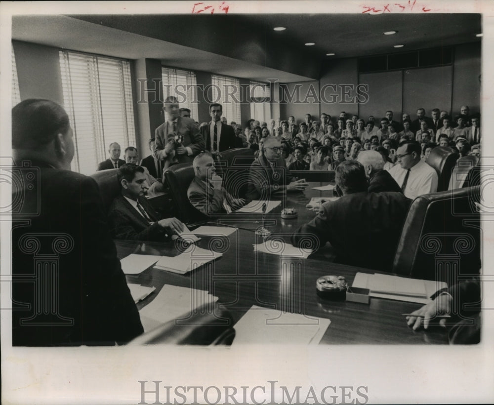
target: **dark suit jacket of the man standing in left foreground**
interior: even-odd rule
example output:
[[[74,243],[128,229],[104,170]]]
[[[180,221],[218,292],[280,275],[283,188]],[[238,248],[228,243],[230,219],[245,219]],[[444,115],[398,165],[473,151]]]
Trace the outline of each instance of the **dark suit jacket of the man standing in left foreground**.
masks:
[[[32,165],[39,167],[33,182],[39,199],[28,189],[30,182],[12,194],[13,199],[24,199],[20,216],[30,220],[16,226],[13,217],[12,298],[31,306],[12,310],[13,345],[114,345],[141,334],[139,313],[117,258],[96,182],[44,163]],[[29,215],[38,209],[39,215]],[[42,258],[42,254],[54,256]],[[58,273],[50,275],[44,268],[36,280],[36,258],[52,262]],[[30,282],[15,282],[19,276]],[[45,283],[39,285],[40,280]],[[44,288],[37,297],[37,289]],[[58,314],[36,315],[42,310],[40,298],[58,299],[53,307]],[[40,321],[51,323],[36,324]]]

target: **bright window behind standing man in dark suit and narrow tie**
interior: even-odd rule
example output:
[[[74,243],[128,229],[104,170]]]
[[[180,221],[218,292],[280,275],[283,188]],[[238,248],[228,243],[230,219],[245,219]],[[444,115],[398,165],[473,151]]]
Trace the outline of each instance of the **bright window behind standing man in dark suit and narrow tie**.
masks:
[[[223,117],[228,123],[241,123],[240,118],[240,83],[238,79],[211,75],[211,100],[223,106]]]

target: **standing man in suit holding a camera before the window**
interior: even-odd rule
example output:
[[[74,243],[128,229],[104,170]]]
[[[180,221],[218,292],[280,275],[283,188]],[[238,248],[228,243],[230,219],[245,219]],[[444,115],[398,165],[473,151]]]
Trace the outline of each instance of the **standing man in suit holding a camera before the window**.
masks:
[[[153,155],[163,163],[165,170],[174,163],[192,162],[204,150],[203,136],[196,122],[179,116],[178,101],[169,96],[165,99],[163,112],[166,121],[155,131]]]

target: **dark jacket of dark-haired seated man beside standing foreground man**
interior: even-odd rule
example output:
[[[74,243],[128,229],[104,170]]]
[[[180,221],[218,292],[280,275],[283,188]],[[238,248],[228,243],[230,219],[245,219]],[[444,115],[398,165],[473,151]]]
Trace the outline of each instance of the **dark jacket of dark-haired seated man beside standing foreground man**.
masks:
[[[158,214],[149,202],[145,198],[139,198],[139,203],[154,224],[149,225],[149,222],[125,200],[124,196],[119,195],[115,197],[108,210],[108,223],[113,238],[155,242],[168,240],[165,228],[158,224]]]

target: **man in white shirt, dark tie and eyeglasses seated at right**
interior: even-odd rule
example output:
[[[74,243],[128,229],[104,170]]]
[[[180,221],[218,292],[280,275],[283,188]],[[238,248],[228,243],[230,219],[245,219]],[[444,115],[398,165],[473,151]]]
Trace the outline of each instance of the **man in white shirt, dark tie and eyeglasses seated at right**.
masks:
[[[389,174],[401,187],[403,194],[412,200],[437,190],[436,170],[420,159],[420,153],[418,142],[403,143],[396,151],[398,164],[389,169]]]

